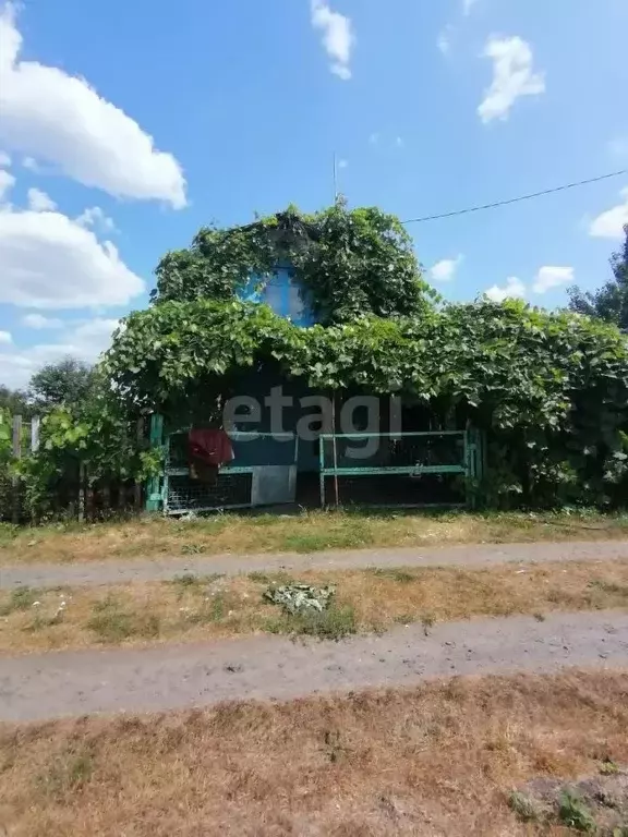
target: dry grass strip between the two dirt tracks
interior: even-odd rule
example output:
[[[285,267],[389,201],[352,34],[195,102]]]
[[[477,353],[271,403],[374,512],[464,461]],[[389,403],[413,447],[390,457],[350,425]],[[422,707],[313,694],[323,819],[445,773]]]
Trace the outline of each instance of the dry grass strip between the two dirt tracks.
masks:
[[[285,573],[252,573],[63,591],[17,589],[0,595],[0,654],[307,632],[307,626],[263,601],[269,583],[289,580]],[[328,638],[416,621],[428,630],[434,621],[474,616],[542,619],[554,610],[628,607],[628,562],[623,560],[311,571],[298,580],[337,587],[329,617],[316,631]]]

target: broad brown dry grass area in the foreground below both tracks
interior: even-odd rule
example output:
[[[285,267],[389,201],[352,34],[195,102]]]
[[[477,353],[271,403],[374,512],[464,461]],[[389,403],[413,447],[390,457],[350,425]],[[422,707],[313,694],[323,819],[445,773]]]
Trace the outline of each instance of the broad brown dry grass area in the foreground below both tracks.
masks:
[[[10,837],[522,837],[541,832],[511,812],[512,788],[605,760],[628,763],[628,672],[5,726],[0,823]]]

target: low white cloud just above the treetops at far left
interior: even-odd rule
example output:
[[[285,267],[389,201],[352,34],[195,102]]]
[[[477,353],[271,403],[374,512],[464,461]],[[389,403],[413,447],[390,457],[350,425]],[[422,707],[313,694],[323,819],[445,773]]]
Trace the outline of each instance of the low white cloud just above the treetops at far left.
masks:
[[[109,348],[118,320],[96,318],[78,326],[73,325],[58,343],[40,343],[28,349],[0,352],[0,385],[24,388],[31,377],[47,363],[63,357],[77,357],[94,363]]]

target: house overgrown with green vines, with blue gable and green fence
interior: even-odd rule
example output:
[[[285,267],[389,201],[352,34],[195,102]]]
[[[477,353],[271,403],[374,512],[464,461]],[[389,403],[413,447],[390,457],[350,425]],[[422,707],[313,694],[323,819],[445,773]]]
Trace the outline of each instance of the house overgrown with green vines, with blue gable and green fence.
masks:
[[[156,274],[105,362],[165,451],[152,509],[613,501],[625,480],[625,338],[444,304],[376,208],[202,229]]]

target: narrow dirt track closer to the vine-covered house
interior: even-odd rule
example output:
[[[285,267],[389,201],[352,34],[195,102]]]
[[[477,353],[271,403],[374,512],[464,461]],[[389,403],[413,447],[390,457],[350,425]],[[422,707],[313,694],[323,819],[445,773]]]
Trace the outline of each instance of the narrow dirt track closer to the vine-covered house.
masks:
[[[17,584],[34,587],[122,584],[134,581],[167,581],[182,572],[198,575],[237,575],[254,570],[355,569],[360,567],[491,567],[533,561],[628,560],[628,542],[473,544],[440,548],[347,549],[300,555],[218,555],[194,558],[157,557],[141,560],[89,563],[40,563],[0,568],[0,590]]]

